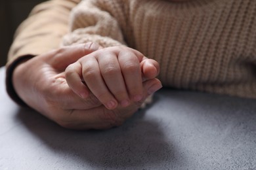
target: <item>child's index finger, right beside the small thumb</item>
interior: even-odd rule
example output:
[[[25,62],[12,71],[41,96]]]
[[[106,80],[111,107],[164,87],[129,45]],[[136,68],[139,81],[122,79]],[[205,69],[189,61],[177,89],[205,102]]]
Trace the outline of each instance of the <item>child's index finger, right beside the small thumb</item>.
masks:
[[[122,50],[119,52],[118,60],[130,99],[140,101],[142,99],[142,76],[139,59],[133,52]]]

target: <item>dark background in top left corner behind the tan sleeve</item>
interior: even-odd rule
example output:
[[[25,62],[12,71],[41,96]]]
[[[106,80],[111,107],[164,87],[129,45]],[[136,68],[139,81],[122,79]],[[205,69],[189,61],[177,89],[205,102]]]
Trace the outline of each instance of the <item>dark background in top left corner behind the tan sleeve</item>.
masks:
[[[18,25],[28,17],[35,5],[45,0],[0,1],[0,67],[7,62],[7,54]]]

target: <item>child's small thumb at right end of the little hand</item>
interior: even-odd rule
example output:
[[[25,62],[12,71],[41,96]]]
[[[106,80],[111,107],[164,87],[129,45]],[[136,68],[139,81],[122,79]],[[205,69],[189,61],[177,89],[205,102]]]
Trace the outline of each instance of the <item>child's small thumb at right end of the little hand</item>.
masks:
[[[157,61],[154,59],[144,58],[140,62],[140,67],[142,71],[142,79],[149,80],[151,78],[155,78],[160,73],[160,66]]]

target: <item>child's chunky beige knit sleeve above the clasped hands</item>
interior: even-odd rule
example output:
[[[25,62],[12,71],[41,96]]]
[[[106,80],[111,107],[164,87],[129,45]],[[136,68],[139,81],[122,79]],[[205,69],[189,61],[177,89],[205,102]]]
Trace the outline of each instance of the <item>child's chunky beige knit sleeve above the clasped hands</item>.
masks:
[[[125,45],[122,27],[126,24],[121,10],[123,0],[81,1],[70,15],[69,33],[62,45],[98,42],[103,47]]]

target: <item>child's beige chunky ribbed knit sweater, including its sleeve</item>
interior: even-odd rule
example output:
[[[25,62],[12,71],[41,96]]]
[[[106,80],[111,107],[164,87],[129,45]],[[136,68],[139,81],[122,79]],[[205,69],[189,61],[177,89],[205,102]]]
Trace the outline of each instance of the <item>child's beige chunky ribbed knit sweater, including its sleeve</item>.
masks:
[[[69,20],[62,45],[127,44],[164,86],[256,98],[255,0],[87,0]]]

